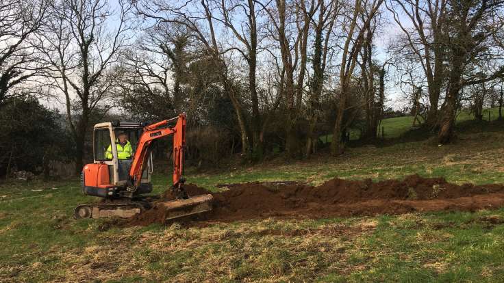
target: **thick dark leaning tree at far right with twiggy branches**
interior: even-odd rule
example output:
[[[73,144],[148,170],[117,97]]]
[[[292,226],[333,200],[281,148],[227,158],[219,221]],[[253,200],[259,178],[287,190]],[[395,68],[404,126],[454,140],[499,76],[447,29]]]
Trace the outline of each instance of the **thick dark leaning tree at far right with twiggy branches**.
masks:
[[[492,58],[491,46],[494,29],[501,29],[504,23],[495,25],[495,15],[504,7],[504,1],[449,1],[449,81],[446,98],[441,107],[438,141],[440,144],[450,142],[453,137],[453,126],[457,111],[457,101],[462,87],[491,81],[503,77],[504,66],[501,66],[483,79],[466,77],[468,67],[481,59]],[[494,25],[491,25],[494,24]]]

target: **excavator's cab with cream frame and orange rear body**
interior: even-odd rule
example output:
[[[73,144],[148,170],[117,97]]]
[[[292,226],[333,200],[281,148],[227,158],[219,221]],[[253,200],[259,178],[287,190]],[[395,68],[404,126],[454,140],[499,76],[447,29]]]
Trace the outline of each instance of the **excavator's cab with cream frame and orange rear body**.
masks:
[[[129,181],[129,170],[138,147],[143,126],[138,122],[105,122],[95,125],[93,131],[93,164],[83,170],[83,191],[88,196],[101,198],[121,197]],[[116,143],[118,135],[125,134],[133,154],[129,159],[119,159]],[[110,154],[112,151],[112,154]],[[147,167],[142,172],[142,180],[136,194],[152,191],[151,173],[153,158],[149,152]]]

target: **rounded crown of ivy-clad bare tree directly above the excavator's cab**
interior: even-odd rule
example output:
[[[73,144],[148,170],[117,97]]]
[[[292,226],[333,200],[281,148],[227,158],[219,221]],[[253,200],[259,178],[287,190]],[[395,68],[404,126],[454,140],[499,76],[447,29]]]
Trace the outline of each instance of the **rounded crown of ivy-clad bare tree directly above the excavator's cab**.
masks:
[[[136,44],[124,52],[122,68],[118,70],[119,96],[131,103],[141,103],[142,98],[147,98],[146,103],[157,101],[152,106],[160,110],[153,113],[156,118],[184,111],[186,94],[182,85],[188,80],[188,64],[196,57],[188,50],[192,44],[190,37],[185,29],[168,23],[145,29]],[[138,96],[138,91],[145,95]],[[140,108],[140,111],[148,109]]]

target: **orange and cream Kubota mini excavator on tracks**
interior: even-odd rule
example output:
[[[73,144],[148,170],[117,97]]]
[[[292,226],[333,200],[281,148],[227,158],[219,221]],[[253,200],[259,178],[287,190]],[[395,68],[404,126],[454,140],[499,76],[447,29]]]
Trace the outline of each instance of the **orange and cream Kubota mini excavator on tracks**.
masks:
[[[176,122],[175,122],[176,121]],[[175,122],[175,126],[170,126]],[[116,135],[127,135],[134,150],[131,159],[118,159]],[[174,200],[162,201],[151,193],[153,172],[153,143],[173,135],[173,185]],[[138,122],[105,122],[96,124],[93,134],[94,163],[84,166],[81,173],[82,191],[88,196],[103,198],[95,204],[82,204],[75,208],[74,217],[132,217],[154,206],[162,206],[165,219],[212,210],[212,195],[190,197],[184,189],[184,150],[186,148],[186,115],[163,120],[155,124]],[[112,149],[112,159],[107,151]]]

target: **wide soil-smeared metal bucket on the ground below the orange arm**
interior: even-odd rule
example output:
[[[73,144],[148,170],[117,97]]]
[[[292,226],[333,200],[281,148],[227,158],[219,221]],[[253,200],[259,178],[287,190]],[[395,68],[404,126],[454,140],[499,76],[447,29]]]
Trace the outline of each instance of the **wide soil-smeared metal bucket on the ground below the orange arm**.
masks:
[[[200,195],[188,198],[186,200],[171,200],[168,202],[160,202],[158,207],[164,208],[166,211],[165,220],[175,219],[188,215],[204,213],[212,210],[212,195]]]

